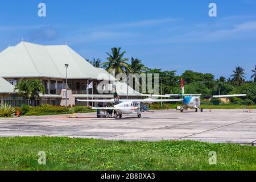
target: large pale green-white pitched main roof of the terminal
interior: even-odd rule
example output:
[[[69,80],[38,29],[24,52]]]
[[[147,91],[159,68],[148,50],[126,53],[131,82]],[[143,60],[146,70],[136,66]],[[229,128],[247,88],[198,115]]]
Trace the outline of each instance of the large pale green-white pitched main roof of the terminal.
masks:
[[[69,64],[69,79],[97,79],[102,72],[67,45],[42,46],[20,42],[0,53],[0,64],[2,77],[65,78],[65,64]]]

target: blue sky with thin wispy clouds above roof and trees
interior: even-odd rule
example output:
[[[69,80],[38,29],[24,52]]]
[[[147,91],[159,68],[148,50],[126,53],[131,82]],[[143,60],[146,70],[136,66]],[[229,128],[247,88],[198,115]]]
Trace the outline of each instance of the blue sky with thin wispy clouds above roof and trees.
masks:
[[[47,16],[38,16],[46,3]],[[208,5],[217,4],[217,17]],[[106,60],[111,47],[150,68],[229,77],[256,64],[256,0],[1,1],[0,49],[19,43],[65,44],[86,59]]]

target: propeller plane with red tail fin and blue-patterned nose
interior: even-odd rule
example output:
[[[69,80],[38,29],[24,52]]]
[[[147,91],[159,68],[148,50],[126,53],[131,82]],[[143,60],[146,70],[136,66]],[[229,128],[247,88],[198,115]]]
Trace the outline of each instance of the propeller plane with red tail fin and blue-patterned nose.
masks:
[[[195,108],[196,112],[198,110],[201,110],[203,112],[203,109],[200,109],[200,96],[201,94],[185,94],[184,92],[184,80],[181,78],[181,94],[166,94],[166,96],[172,97],[181,97],[182,98],[182,104],[183,106],[178,107],[181,112],[184,111],[184,109],[189,108]],[[209,96],[208,98],[226,98],[226,97],[245,97],[246,94],[232,94],[232,95],[222,95],[222,96]]]

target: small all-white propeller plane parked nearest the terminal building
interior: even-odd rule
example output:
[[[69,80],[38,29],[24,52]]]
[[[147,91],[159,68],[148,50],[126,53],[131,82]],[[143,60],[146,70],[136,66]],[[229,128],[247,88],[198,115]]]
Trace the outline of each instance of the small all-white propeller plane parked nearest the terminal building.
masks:
[[[116,95],[117,96],[117,95]],[[156,97],[156,95],[150,95]],[[169,96],[165,96],[169,97]],[[153,102],[179,102],[183,101],[182,99],[130,99],[122,100],[118,96],[110,100],[77,100],[79,102],[107,102],[114,103],[113,107],[93,107],[92,109],[97,110],[115,110],[117,111],[117,117],[122,118],[122,114],[137,114],[138,118],[141,118],[142,114],[142,103],[152,104]]]

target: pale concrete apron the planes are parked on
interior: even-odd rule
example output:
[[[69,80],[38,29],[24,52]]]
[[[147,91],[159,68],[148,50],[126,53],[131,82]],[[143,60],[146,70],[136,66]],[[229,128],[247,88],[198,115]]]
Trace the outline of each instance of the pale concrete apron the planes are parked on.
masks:
[[[96,114],[0,119],[0,137],[67,136],[110,140],[199,140],[256,145],[256,111],[212,110],[195,113],[160,110],[122,119],[98,119]],[[134,117],[133,117],[134,116]]]

